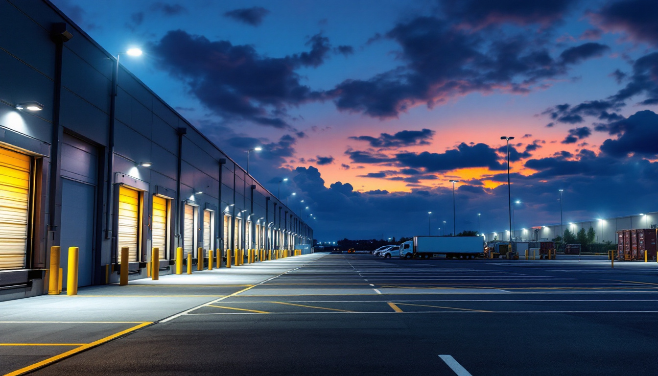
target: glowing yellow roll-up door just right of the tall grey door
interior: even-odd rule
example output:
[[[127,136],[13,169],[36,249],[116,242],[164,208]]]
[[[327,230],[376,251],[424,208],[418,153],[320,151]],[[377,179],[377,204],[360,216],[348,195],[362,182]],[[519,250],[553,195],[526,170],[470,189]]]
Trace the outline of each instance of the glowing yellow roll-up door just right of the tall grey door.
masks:
[[[119,187],[118,210],[118,261],[121,262],[121,248],[128,247],[128,261],[138,261],[139,250],[139,192],[125,186]]]

